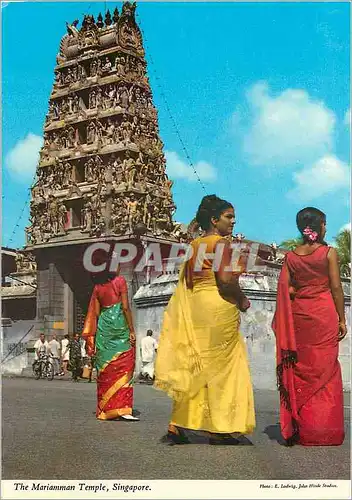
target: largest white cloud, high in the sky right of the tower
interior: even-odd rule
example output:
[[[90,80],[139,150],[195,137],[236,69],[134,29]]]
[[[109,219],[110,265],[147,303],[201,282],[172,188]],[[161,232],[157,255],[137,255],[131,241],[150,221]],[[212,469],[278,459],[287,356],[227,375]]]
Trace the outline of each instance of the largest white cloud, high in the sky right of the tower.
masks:
[[[304,90],[272,96],[266,82],[247,92],[251,124],[243,152],[252,165],[283,167],[311,163],[331,151],[336,118]]]

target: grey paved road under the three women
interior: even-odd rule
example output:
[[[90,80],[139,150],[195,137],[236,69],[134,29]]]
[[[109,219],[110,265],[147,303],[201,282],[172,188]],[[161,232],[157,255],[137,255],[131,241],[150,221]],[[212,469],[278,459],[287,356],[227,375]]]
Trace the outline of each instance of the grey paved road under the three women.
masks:
[[[347,438],[340,447],[280,446],[277,394],[256,394],[254,446],[160,442],[170,401],[136,386],[140,422],[100,422],[95,384],[3,378],[3,479],[349,479]],[[268,436],[269,434],[269,436]]]

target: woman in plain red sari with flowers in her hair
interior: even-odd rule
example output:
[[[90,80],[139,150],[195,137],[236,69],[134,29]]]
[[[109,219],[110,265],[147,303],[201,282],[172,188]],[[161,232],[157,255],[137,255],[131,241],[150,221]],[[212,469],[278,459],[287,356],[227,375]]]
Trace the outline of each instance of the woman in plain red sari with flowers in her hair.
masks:
[[[286,255],[273,321],[281,433],[287,445],[340,445],[344,417],[338,343],[347,330],[338,257],[324,242],[323,212],[308,207],[296,221],[303,244]]]

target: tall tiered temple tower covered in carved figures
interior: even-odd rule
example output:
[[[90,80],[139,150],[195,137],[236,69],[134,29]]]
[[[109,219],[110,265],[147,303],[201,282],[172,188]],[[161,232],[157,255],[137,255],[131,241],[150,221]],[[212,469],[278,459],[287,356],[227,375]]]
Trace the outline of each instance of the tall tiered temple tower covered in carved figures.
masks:
[[[87,15],[80,27],[67,24],[60,42],[27,228],[38,268],[37,321],[46,333],[82,328],[92,289],[87,245],[128,241],[141,250],[142,233],[144,246],[158,241],[166,250],[176,239],[135,9],[125,2],[105,19]],[[144,275],[133,266],[122,274],[132,295]]]

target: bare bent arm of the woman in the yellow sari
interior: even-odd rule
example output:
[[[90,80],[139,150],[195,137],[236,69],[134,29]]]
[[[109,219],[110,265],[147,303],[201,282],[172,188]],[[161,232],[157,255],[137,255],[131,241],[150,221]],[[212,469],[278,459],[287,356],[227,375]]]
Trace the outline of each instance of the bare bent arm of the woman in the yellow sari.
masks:
[[[240,288],[239,275],[227,270],[231,264],[232,255],[230,242],[220,240],[219,243],[224,245],[219,270],[215,272],[219,293],[223,299],[231,303],[235,302],[241,311],[245,311],[249,307],[249,301]]]

